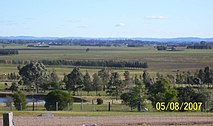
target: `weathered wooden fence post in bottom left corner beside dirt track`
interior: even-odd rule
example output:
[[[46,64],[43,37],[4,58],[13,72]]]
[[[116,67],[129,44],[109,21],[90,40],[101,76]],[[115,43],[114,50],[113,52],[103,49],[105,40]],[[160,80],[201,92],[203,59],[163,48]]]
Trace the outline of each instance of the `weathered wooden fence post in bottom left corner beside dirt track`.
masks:
[[[13,113],[3,113],[3,126],[14,126]]]

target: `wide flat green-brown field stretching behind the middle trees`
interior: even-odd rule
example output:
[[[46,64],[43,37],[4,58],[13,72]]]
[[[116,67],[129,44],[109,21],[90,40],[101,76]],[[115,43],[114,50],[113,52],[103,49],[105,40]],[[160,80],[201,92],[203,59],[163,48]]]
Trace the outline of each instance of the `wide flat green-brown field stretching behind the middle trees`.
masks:
[[[65,60],[139,60],[148,63],[148,71],[151,75],[157,72],[162,74],[174,74],[180,71],[195,71],[205,66],[213,67],[213,50],[183,50],[183,51],[157,51],[153,47],[83,47],[83,46],[58,46],[50,48],[36,48],[30,50],[26,46],[7,46],[7,48],[27,49],[19,50],[19,55],[0,56],[5,60],[41,60],[41,59],[65,59]],[[90,48],[86,52],[86,48]],[[47,66],[49,70],[55,69],[62,76],[69,73],[73,66]],[[83,67],[82,72],[88,70],[95,73],[100,69]],[[141,74],[144,69],[129,70],[132,75]],[[124,72],[124,69],[117,70]],[[17,72],[17,65],[0,64],[0,74]]]

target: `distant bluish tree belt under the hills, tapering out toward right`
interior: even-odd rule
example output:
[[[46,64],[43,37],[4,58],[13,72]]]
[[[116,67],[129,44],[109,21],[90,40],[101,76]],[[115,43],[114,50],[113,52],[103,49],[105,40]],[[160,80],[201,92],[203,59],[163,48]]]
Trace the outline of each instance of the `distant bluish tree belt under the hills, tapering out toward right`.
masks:
[[[80,45],[80,46],[121,46],[127,44],[144,45],[153,44],[156,42],[132,40],[132,39],[0,39],[2,44],[32,44],[32,43],[45,43],[49,45]]]

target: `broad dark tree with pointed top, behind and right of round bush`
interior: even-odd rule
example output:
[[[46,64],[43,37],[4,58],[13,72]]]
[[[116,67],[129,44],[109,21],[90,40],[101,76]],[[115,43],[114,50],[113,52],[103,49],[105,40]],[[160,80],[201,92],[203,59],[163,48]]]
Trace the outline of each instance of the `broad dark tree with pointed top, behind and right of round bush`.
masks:
[[[79,89],[83,88],[83,74],[80,72],[79,67],[75,67],[71,73],[67,75],[67,81],[65,81],[66,89],[73,91],[73,95]]]

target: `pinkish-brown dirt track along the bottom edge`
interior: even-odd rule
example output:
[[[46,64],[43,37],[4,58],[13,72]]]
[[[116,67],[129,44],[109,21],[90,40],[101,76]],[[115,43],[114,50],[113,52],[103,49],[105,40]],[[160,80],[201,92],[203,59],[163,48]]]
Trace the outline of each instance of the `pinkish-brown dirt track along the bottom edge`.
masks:
[[[160,117],[160,116],[67,116],[67,117],[14,117],[15,126],[97,126],[120,125],[185,125],[213,124],[213,117]],[[2,124],[2,119],[0,121]]]

